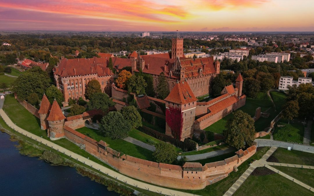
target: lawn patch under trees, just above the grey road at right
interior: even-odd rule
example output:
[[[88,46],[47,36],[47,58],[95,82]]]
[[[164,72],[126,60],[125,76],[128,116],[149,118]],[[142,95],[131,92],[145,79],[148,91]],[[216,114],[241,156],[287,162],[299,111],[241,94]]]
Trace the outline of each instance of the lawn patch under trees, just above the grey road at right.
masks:
[[[278,127],[278,125],[284,125]],[[288,141],[295,143],[303,143],[304,125],[295,121],[290,124],[284,123],[281,120],[278,122],[273,133],[274,140]]]

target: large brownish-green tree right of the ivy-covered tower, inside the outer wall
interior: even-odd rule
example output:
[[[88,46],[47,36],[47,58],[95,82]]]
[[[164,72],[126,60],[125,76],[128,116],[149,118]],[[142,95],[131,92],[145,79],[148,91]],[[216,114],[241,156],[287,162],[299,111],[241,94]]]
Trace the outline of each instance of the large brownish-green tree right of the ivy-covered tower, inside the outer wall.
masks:
[[[235,111],[224,130],[224,136],[226,143],[237,149],[251,146],[255,139],[254,120],[242,110]]]

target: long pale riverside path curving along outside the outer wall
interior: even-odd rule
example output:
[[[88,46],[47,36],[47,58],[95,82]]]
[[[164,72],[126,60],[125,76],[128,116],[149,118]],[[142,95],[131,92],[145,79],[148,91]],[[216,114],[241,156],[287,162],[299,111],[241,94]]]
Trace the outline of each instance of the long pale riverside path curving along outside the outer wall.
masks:
[[[135,180],[133,178],[127,177],[125,175],[122,175],[121,173],[112,171],[111,169],[104,167],[96,162],[93,162],[83,156],[80,156],[72,151],[67,150],[66,148],[63,148],[62,146],[59,146],[53,142],[51,142],[50,140],[46,140],[43,139],[37,135],[34,135],[26,130],[21,129],[20,127],[16,126],[11,119],[9,119],[8,115],[5,114],[5,112],[3,111],[3,109],[0,109],[0,115],[2,116],[3,120],[6,122],[6,124],[8,124],[8,126],[10,126],[11,128],[14,128],[16,131],[18,131],[19,133],[22,133],[23,135],[26,135],[27,137],[30,137],[33,140],[36,140],[38,142],[41,142],[43,144],[46,144],[47,146],[53,148],[53,149],[57,149],[60,152],[63,152],[64,154],[77,159],[79,162],[82,162],[90,167],[93,167],[97,170],[99,170],[100,172],[111,176],[113,178],[116,178],[117,180],[129,184],[131,186],[137,186],[138,188],[142,188],[145,190],[149,190],[155,193],[161,193],[162,195],[178,195],[178,196],[185,196],[185,195],[189,195],[192,196],[194,194],[190,194],[190,193],[184,193],[181,191],[177,191],[177,190],[171,190],[168,188],[162,188],[162,187],[158,187],[158,186],[154,186],[152,184],[148,184],[148,183],[144,183],[144,182],[140,182],[138,180]],[[92,155],[91,155],[92,156]],[[104,163],[105,164],[105,163]]]

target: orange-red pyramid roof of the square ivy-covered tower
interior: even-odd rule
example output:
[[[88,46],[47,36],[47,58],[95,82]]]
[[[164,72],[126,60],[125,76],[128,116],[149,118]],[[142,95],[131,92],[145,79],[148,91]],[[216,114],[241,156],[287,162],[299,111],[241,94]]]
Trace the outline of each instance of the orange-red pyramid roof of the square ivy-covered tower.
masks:
[[[178,104],[191,103],[197,101],[198,99],[193,94],[189,84],[185,81],[178,81],[176,85],[172,88],[168,97],[165,101],[170,101]],[[196,104],[195,104],[196,105]]]

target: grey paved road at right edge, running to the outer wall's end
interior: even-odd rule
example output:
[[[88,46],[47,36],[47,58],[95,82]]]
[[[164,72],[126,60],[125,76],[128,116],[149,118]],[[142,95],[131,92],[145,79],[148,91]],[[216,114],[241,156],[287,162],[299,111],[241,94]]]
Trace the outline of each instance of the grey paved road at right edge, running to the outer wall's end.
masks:
[[[286,149],[288,147],[291,147],[291,149],[296,150],[296,151],[314,153],[314,146],[307,146],[303,144],[296,144],[296,143],[277,141],[277,140],[267,140],[267,139],[255,139],[254,141],[257,143],[256,144],[257,147],[277,146],[277,147],[286,148]]]

